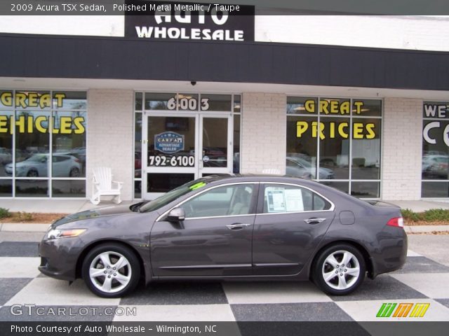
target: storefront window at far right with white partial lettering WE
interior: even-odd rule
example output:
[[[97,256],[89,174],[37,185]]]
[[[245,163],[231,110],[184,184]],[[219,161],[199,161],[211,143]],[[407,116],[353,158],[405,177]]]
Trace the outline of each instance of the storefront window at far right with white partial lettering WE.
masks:
[[[424,102],[422,197],[449,197],[449,102]]]

